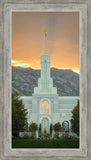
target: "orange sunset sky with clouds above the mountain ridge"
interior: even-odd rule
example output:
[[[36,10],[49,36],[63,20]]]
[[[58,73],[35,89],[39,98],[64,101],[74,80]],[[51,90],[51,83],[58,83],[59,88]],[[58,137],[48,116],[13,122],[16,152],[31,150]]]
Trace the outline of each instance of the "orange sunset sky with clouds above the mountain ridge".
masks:
[[[45,29],[51,67],[79,72],[78,12],[13,12],[12,65],[40,69]]]

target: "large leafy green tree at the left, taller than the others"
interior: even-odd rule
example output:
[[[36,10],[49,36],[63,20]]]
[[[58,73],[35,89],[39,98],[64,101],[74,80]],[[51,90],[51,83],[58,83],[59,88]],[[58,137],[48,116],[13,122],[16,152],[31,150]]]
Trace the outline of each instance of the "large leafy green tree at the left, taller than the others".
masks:
[[[27,123],[27,110],[18,92],[12,94],[12,135],[18,136]]]

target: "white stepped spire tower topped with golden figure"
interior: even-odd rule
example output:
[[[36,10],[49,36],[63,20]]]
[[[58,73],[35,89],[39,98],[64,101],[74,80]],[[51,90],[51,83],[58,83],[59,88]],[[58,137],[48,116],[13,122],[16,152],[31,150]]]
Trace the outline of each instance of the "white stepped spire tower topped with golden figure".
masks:
[[[47,30],[45,30],[45,50],[41,55],[41,76],[38,79],[38,87],[34,88],[34,94],[57,94],[50,77],[50,55],[47,53]]]

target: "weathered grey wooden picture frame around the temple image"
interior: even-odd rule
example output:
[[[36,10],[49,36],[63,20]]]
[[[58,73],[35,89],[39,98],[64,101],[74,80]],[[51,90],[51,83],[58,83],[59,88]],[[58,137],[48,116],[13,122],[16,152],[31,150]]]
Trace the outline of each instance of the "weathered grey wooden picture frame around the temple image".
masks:
[[[83,1],[84,2],[84,1]],[[1,159],[90,159],[90,0],[70,1],[1,1]],[[11,148],[11,13],[12,11],[79,11],[80,12],[80,148],[79,149],[12,149]],[[87,30],[88,29],[88,30]],[[87,37],[88,35],[88,37]],[[88,39],[87,39],[88,38]],[[84,118],[83,118],[84,117]]]

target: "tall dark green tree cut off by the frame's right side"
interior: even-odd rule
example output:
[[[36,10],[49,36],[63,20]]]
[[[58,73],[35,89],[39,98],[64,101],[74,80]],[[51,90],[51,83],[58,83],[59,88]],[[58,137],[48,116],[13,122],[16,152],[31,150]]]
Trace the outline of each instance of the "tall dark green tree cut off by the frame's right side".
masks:
[[[79,101],[77,102],[77,106],[72,111],[71,129],[73,132],[79,135]]]

